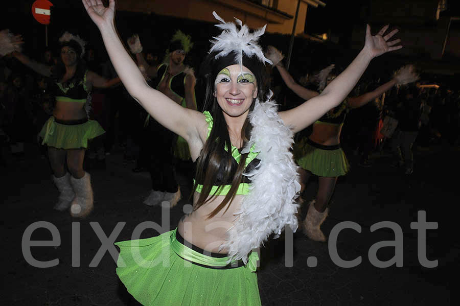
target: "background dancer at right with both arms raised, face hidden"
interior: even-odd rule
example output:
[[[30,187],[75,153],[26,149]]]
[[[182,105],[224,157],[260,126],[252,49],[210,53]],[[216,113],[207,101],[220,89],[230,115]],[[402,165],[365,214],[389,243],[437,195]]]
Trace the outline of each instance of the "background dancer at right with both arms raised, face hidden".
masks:
[[[321,70],[317,76],[319,92],[315,92],[294,81],[281,62],[283,55],[276,48],[269,46],[266,56],[278,68],[286,85],[297,96],[306,100],[320,95],[319,92],[322,92],[325,86],[336,78],[335,75],[331,74],[334,65]],[[315,199],[309,203],[307,216],[303,222],[304,231],[310,239],[326,241],[326,237],[319,227],[328,216],[329,209],[327,206],[334,192],[337,178],[345,175],[350,169],[347,157],[340,148],[340,132],[347,112],[373,101],[395,85],[407,84],[417,79],[418,76],[413,71],[413,66],[401,68],[392,80],[380,85],[375,90],[366,92],[359,97],[348,97],[340,105],[329,110],[313,123],[313,131],[310,136],[296,144],[296,147],[299,148],[298,151],[300,151],[295,153],[296,161],[305,170],[301,171],[301,181],[303,182],[301,194],[310,175],[318,176],[318,191]]]

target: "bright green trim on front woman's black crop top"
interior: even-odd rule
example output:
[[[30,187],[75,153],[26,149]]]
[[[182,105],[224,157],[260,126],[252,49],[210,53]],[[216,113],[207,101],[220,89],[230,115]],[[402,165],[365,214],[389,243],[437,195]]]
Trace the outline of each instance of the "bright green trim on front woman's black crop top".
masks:
[[[209,137],[209,135],[211,134],[211,130],[213,128],[213,117],[211,116],[209,111],[204,111],[203,113],[206,116],[206,122],[208,123],[208,137]],[[254,152],[254,146],[252,146],[246,157],[244,173],[249,173],[252,169],[258,166],[260,162],[260,160],[256,158],[258,154],[259,153]],[[236,168],[238,167],[238,163],[241,160],[241,153],[238,151],[238,149],[235,146],[232,146],[232,157],[233,157],[232,158],[233,159],[232,171],[236,171]],[[196,166],[196,162],[197,161],[195,161],[195,166]],[[230,191],[232,187],[231,181],[223,181],[221,179],[222,175],[219,175],[220,172],[223,170],[224,169],[222,168],[219,169],[219,172],[217,174],[217,179],[211,188],[210,195],[224,196]],[[193,181],[195,183],[195,180]],[[240,183],[240,185],[238,186],[238,190],[236,194],[237,195],[247,195],[249,193],[250,182],[251,182],[250,179],[247,176],[243,175],[243,182]],[[203,185],[200,184],[200,182],[198,182],[195,191],[197,193],[201,193],[202,190],[203,190]]]

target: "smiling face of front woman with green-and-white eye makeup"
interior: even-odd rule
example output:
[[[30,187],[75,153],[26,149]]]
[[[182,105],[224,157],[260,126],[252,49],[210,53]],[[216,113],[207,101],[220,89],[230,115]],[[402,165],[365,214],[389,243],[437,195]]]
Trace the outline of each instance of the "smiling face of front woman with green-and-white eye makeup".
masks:
[[[247,113],[252,100],[257,97],[257,80],[254,74],[239,65],[223,68],[214,82],[214,96],[222,111],[231,117]]]

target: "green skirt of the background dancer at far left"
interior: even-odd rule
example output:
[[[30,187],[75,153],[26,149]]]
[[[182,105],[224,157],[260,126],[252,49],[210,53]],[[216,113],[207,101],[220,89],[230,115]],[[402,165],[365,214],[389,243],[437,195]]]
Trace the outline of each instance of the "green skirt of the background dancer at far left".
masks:
[[[43,145],[58,149],[79,149],[88,147],[88,139],[104,134],[102,126],[95,120],[82,124],[66,125],[55,122],[50,117],[38,134]]]

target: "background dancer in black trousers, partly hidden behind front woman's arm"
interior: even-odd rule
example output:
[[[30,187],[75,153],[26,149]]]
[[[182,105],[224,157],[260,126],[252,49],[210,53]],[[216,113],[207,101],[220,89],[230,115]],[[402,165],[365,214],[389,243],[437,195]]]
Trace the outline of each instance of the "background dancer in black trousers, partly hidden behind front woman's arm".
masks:
[[[142,44],[138,35],[128,39],[128,45],[136,55],[137,64],[147,79],[152,78],[150,85],[167,97],[189,109],[196,110],[195,83],[193,69],[184,65],[187,53],[192,49],[191,37],[177,30],[171,39],[166,52],[165,61],[158,66],[150,66],[145,60]],[[177,137],[170,130],[164,128],[157,121],[147,118],[147,135],[149,140],[143,143],[134,172],[142,171],[146,164],[152,180],[152,191],[144,200],[144,204],[152,206],[167,201],[171,207],[175,206],[181,198],[180,188],[174,175],[173,155],[181,160],[190,160],[189,146],[180,135]],[[154,146],[152,138],[159,141]],[[173,152],[169,149],[173,147]]]

